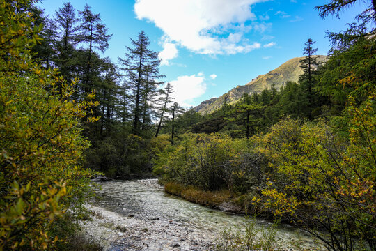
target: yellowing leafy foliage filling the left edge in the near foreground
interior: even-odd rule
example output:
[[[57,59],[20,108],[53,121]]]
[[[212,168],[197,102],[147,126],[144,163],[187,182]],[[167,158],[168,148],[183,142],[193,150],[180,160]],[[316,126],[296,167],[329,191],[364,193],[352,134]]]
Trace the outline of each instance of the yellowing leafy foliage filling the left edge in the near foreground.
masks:
[[[50,226],[68,208],[82,213],[93,175],[79,166],[80,122],[95,121],[85,112],[95,103],[70,101],[68,84],[56,95],[62,80],[31,61],[41,28],[22,11],[31,3],[0,4],[0,250],[52,250]]]

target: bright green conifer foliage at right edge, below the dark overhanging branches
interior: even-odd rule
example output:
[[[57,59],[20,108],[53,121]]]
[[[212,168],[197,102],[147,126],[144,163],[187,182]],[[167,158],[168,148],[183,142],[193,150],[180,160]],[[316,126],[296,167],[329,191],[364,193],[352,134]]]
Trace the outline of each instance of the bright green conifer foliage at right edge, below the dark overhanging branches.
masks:
[[[344,109],[352,96],[357,104],[363,102],[375,86],[375,38],[359,38],[345,52],[335,51],[320,70],[316,89],[331,100],[331,106]],[[338,113],[337,113],[338,114]]]

